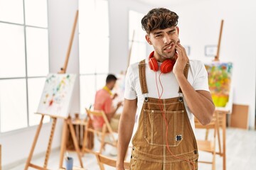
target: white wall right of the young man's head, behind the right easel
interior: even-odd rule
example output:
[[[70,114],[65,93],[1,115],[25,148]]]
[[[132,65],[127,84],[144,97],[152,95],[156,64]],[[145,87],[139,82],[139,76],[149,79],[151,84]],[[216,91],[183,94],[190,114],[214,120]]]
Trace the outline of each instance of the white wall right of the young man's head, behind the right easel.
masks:
[[[220,20],[224,19],[220,61],[233,62],[233,103],[250,106],[250,128],[255,125],[256,2],[208,0],[168,6],[180,16],[183,45],[190,45],[191,59],[210,62],[205,45],[217,45]]]

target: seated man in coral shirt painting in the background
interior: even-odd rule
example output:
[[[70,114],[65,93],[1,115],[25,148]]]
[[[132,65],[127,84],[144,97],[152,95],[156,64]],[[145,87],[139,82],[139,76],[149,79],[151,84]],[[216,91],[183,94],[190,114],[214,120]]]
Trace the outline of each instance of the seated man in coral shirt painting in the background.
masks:
[[[112,94],[112,89],[114,88],[114,84],[117,81],[117,77],[115,77],[113,74],[107,75],[106,79],[106,85],[97,91],[95,95],[95,105],[94,109],[95,111],[104,111],[107,115],[107,119],[110,122],[110,126],[112,130],[117,132],[118,124],[119,124],[119,115],[116,114],[117,109],[122,106],[122,102],[117,103],[116,107],[113,107],[112,101],[115,97],[117,97],[117,94]],[[94,117],[93,120],[93,127],[97,130],[102,129],[102,126],[104,124],[103,118]]]

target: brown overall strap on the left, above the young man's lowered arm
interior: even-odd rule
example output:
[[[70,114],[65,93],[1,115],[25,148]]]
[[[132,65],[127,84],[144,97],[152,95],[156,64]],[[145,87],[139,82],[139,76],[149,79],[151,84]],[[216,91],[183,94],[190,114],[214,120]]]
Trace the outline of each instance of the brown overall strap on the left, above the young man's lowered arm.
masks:
[[[149,93],[146,86],[146,63],[145,60],[139,62],[139,82],[141,84],[142,94]]]

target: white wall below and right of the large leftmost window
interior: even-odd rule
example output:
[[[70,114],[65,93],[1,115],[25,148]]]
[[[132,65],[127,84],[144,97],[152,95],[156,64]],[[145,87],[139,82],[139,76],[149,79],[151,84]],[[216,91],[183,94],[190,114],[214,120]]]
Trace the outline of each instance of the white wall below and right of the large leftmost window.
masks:
[[[48,30],[50,49],[50,72],[56,73],[63,67],[65,55],[70,40],[70,33],[73,27],[75,11],[78,9],[78,1],[74,0],[50,0],[48,1]],[[73,48],[68,64],[68,73],[79,72],[78,61],[78,29],[75,33]],[[79,111],[79,79],[75,84],[75,95],[71,111]],[[38,115],[39,116],[39,115]],[[58,119],[53,137],[52,148],[60,147],[63,120]],[[36,128],[27,128],[0,135],[2,145],[2,166],[9,169],[11,164],[25,160],[28,157]],[[41,134],[34,151],[34,155],[46,152],[50,136],[51,124],[43,125]],[[43,162],[41,163],[43,166]]]

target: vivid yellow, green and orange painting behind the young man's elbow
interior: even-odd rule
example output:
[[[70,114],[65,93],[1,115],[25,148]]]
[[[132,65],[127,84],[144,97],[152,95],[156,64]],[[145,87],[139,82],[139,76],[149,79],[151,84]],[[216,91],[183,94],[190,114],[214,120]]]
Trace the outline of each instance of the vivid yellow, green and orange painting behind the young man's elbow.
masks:
[[[231,62],[213,62],[205,64],[205,66],[213,102],[217,107],[225,107],[230,96],[233,64]]]

